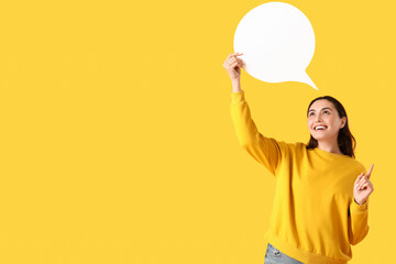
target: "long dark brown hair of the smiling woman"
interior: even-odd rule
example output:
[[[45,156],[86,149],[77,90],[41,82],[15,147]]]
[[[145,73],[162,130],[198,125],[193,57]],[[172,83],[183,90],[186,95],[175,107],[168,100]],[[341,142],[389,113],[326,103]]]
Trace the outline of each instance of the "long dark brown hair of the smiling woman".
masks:
[[[351,156],[351,157],[355,158],[354,148],[356,147],[356,140],[354,139],[354,136],[352,135],[352,133],[351,133],[351,131],[349,129],[346,111],[343,108],[343,106],[341,105],[341,102],[339,102],[336,98],[333,98],[331,96],[323,96],[323,97],[315,98],[308,106],[307,117],[308,117],[310,106],[315,101],[321,100],[321,99],[326,99],[328,101],[331,101],[334,105],[334,107],[336,107],[336,109],[337,109],[337,111],[339,113],[339,117],[340,118],[343,118],[343,117],[346,118],[345,125],[342,129],[340,129],[340,131],[339,131],[338,144],[339,144],[340,151],[344,155],[348,155],[348,156]],[[315,147],[318,146],[318,141],[316,139],[314,139],[312,135],[310,135],[309,142],[306,144],[306,146],[307,146],[307,150],[315,148]]]

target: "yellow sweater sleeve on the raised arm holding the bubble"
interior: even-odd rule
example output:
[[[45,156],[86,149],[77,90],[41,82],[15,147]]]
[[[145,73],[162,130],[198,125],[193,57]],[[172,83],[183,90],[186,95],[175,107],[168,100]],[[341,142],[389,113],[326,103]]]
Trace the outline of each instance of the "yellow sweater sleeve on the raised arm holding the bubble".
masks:
[[[241,146],[275,176],[282,157],[282,142],[257,131],[243,90],[231,94],[231,118]]]

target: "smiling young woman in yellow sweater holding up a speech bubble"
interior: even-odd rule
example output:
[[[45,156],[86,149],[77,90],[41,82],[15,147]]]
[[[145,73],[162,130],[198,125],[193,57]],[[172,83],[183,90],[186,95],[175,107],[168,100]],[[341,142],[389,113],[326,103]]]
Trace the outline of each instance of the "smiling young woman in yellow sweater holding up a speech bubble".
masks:
[[[361,242],[369,232],[374,164],[366,173],[355,160],[346,112],[332,97],[316,98],[308,106],[308,144],[261,134],[241,90],[244,62],[240,55],[230,54],[223,64],[232,82],[232,121],[242,147],[276,183],[265,234],[265,264],[346,264],[352,258],[351,244]]]

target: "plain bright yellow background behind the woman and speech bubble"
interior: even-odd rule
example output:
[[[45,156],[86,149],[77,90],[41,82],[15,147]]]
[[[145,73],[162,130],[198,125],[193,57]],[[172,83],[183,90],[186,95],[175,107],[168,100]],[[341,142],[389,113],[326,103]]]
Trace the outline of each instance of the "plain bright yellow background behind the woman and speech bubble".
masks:
[[[238,143],[222,67],[262,3],[2,1],[0,263],[264,263],[275,183]],[[350,263],[392,262],[395,6],[287,3],[312,23],[319,91],[242,72],[252,117],[307,142],[308,103],[343,103],[356,160],[375,164]]]

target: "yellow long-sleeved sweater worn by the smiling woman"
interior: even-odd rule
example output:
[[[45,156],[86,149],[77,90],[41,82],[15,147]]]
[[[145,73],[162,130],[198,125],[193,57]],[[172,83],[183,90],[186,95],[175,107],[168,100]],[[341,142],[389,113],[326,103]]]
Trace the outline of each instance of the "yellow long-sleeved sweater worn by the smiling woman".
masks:
[[[265,239],[305,264],[348,263],[350,244],[369,232],[369,200],[358,205],[353,198],[353,184],[366,173],[364,166],[348,155],[265,138],[251,118],[243,90],[231,94],[231,118],[242,147],[275,178]]]

